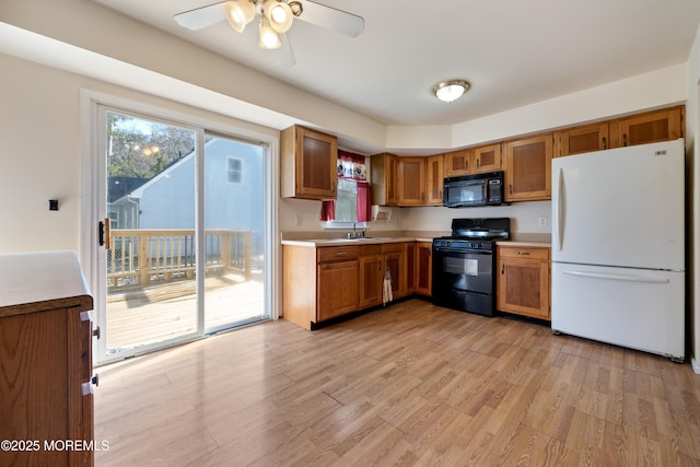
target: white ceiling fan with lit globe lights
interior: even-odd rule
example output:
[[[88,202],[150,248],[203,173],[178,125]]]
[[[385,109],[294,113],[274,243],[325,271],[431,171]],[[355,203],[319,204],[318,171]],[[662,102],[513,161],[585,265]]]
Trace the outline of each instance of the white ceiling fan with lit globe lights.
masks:
[[[299,19],[357,37],[364,30],[364,19],[310,0],[229,0],[175,14],[183,27],[199,31],[226,19],[231,27],[243,33],[246,25],[259,16],[258,47],[273,50],[283,48],[288,66],[294,65],[294,54],[285,34],[292,21]],[[281,39],[282,40],[281,40]],[[284,44],[282,44],[284,43]]]

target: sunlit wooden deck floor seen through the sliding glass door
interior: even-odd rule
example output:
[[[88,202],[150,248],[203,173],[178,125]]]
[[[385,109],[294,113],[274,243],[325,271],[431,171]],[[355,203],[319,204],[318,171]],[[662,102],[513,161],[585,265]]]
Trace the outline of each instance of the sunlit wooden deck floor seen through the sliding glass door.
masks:
[[[197,331],[195,280],[110,291],[107,296],[107,352],[164,341]],[[250,322],[265,314],[264,285],[243,276],[205,280],[205,327]]]

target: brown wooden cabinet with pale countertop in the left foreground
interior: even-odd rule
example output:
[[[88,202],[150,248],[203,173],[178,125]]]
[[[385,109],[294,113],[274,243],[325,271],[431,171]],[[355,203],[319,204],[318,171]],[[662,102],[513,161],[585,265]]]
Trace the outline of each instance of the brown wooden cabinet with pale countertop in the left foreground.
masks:
[[[92,308],[74,253],[0,255],[0,465],[93,465]]]

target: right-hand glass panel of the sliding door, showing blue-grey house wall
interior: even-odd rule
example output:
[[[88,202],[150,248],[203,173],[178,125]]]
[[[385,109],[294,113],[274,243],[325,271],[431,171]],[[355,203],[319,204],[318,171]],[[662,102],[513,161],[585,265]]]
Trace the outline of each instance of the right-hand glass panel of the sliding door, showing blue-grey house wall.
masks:
[[[264,148],[207,133],[205,331],[265,317]]]

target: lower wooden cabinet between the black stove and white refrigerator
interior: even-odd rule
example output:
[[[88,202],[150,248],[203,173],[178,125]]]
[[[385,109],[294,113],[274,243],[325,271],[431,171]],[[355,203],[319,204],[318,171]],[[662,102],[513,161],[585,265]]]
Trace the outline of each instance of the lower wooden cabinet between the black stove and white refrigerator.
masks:
[[[497,247],[499,311],[550,319],[548,247]]]

